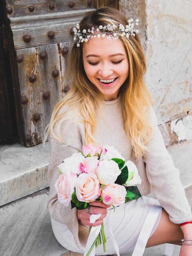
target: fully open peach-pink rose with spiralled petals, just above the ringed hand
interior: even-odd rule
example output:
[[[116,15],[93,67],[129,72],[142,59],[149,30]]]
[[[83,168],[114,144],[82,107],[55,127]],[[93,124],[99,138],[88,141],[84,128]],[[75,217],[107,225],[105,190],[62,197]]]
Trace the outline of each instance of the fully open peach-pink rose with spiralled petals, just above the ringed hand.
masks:
[[[76,184],[76,196],[81,202],[93,202],[100,196],[100,184],[95,173],[81,173]]]

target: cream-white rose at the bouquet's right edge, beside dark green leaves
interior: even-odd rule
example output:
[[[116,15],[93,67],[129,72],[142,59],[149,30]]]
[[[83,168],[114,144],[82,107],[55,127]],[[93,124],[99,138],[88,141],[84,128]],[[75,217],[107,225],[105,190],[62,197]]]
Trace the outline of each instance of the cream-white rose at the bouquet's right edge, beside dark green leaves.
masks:
[[[137,184],[141,184],[141,177],[138,175],[138,170],[136,165],[132,161],[127,161],[125,165],[128,168],[128,178],[124,186],[136,186]],[[125,167],[124,165],[124,167]]]

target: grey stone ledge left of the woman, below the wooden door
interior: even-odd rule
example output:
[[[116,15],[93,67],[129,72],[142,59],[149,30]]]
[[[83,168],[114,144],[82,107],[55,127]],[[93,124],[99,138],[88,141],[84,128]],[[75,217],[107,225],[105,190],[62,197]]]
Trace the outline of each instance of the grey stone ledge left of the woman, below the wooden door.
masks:
[[[0,148],[0,206],[49,187],[49,143],[31,148],[21,144]]]

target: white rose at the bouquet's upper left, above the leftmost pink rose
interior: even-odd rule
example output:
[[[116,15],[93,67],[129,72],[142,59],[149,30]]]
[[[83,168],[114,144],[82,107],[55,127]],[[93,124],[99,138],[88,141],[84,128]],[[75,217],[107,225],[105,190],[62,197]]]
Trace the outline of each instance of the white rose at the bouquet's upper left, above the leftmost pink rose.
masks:
[[[82,166],[83,160],[85,157],[81,153],[74,153],[71,157],[65,158],[64,162],[60,164],[58,167],[62,171],[62,173],[82,173]]]

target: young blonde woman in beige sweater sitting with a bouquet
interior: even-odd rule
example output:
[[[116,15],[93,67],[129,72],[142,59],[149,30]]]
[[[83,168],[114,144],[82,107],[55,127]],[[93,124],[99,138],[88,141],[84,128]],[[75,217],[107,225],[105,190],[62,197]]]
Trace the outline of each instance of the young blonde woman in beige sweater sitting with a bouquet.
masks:
[[[76,43],[65,73],[71,89],[54,108],[46,134],[51,146],[48,209],[53,231],[65,248],[84,253],[89,226],[100,225],[108,213],[120,253],[145,245],[180,245],[185,238],[189,240],[183,242],[186,245],[182,244],[180,256],[190,256],[192,224],[179,224],[191,222],[191,208],[143,81],[146,67],[137,24],[134,27],[129,23],[134,22],[127,21],[118,10],[102,7],[86,15],[74,29]],[[123,204],[115,212],[98,201],[90,203],[88,212],[58,202],[57,166],[90,143],[114,146],[136,164],[142,180],[138,185],[141,198]],[[145,197],[151,191],[158,201]],[[152,209],[159,209],[153,217]],[[90,224],[90,213],[102,215]],[[143,229],[148,235],[141,238]],[[114,253],[108,238],[105,254]],[[134,253],[143,255],[142,251]],[[96,248],[96,255],[104,255],[102,246]]]

